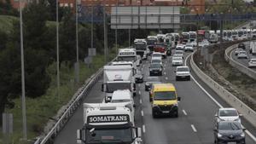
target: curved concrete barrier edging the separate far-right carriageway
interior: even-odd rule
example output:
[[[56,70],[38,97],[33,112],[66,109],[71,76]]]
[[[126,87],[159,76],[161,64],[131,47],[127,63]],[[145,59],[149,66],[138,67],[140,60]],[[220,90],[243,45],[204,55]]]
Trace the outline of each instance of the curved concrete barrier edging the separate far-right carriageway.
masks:
[[[233,60],[232,57],[230,57],[230,52],[236,48],[237,48],[237,44],[234,44],[234,45],[230,46],[229,48],[225,49],[225,55],[224,55],[225,60],[231,66],[235,67],[240,72],[242,72],[242,73],[246,74],[247,76],[249,76],[250,78],[253,78],[256,80],[256,72],[255,71],[248,68],[247,66],[241,65],[241,63],[237,62],[236,60]]]

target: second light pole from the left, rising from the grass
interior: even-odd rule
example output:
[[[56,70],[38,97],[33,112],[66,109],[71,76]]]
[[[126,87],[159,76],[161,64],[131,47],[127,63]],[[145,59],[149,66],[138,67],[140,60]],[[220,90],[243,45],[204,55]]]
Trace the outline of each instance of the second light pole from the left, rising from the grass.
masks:
[[[56,67],[57,67],[57,96],[58,102],[60,98],[60,54],[59,54],[59,0],[56,0]]]

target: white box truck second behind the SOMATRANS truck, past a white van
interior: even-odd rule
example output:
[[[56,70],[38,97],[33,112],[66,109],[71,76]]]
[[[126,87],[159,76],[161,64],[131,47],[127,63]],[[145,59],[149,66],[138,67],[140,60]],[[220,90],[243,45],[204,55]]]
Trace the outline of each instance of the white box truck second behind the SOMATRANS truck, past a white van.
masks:
[[[113,91],[129,89],[136,95],[136,84],[131,66],[104,66],[102,92],[105,102],[111,101]]]

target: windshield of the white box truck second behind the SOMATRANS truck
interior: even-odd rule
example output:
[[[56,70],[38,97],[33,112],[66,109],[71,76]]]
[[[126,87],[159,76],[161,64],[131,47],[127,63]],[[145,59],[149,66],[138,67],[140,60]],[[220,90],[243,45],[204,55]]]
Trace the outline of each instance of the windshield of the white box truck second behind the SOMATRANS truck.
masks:
[[[130,83],[111,83],[107,84],[107,92],[113,93],[114,90],[123,90],[123,89],[130,89],[131,90],[131,84]]]

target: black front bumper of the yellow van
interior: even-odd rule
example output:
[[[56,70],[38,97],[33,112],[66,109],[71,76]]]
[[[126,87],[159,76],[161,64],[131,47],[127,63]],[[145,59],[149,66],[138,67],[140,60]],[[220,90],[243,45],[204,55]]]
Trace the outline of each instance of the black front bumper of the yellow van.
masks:
[[[154,115],[177,115],[177,106],[156,106],[152,107]]]

